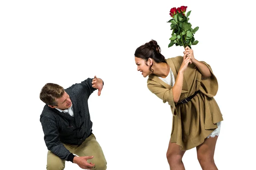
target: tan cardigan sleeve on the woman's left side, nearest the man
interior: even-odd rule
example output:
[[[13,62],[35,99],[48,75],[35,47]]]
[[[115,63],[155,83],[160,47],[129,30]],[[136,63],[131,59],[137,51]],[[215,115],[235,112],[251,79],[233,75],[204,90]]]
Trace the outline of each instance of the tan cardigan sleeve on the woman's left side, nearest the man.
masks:
[[[162,85],[160,85],[157,82],[154,82],[153,80],[148,80],[147,83],[148,83],[148,89],[157,97],[162,99],[164,103],[168,102],[168,104],[171,106],[172,115],[177,116],[175,102],[172,94],[172,88],[171,89],[164,88]]]

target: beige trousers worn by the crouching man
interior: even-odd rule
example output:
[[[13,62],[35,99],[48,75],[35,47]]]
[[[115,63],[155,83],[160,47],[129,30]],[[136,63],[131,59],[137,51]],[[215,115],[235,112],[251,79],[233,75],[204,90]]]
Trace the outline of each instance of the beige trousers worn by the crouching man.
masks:
[[[93,156],[93,159],[88,159],[88,161],[95,164],[92,170],[107,169],[107,161],[103,154],[102,148],[96,141],[96,138],[93,134],[85,139],[85,141],[79,147],[77,145],[71,144],[64,144],[64,147],[66,147],[67,150],[77,156]],[[46,168],[47,170],[64,170],[65,160],[60,159],[58,156],[48,150]]]

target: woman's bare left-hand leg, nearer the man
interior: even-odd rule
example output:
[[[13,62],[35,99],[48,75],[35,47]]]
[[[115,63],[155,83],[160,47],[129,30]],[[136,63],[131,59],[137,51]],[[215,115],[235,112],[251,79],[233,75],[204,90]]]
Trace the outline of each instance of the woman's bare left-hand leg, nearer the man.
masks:
[[[182,157],[186,151],[180,150],[180,146],[176,143],[169,142],[169,147],[166,153],[170,170],[185,170],[182,162]]]

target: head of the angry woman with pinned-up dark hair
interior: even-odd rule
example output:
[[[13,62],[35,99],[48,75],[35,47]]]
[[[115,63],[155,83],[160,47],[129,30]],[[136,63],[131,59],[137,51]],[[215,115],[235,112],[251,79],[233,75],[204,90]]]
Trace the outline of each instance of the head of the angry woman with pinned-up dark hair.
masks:
[[[136,49],[135,63],[137,70],[142,72],[143,77],[154,73],[152,69],[154,62],[166,62],[165,57],[160,52],[161,48],[155,40],[151,40]]]

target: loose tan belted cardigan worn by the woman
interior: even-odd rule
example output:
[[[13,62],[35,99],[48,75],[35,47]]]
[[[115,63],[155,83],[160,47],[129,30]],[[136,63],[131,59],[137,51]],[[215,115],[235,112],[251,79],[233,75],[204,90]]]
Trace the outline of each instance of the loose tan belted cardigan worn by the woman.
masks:
[[[182,56],[166,59],[175,80],[182,61]],[[180,145],[181,150],[189,150],[202,144],[204,139],[217,128],[216,123],[223,120],[218,104],[213,98],[218,91],[217,79],[210,65],[203,63],[212,73],[209,78],[202,78],[194,64],[190,64],[184,72],[183,87],[178,102],[191,96],[195,91],[201,92],[186,104],[177,105],[174,102],[171,85],[154,74],[148,76],[148,89],[171,106],[173,114],[171,142]]]

